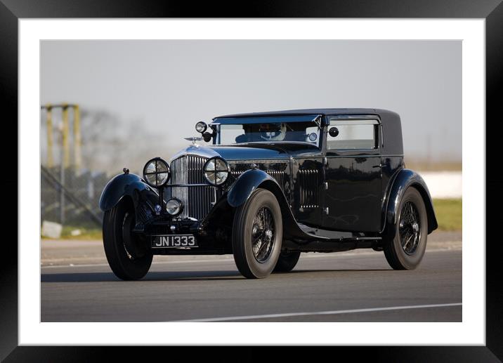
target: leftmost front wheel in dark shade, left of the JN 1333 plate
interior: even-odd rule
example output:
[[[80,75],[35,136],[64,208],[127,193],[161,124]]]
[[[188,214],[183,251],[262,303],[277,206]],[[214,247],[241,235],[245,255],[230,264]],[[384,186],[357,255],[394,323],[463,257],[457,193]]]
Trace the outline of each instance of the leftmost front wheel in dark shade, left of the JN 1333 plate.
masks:
[[[133,233],[134,207],[131,199],[123,198],[105,211],[103,246],[108,264],[119,279],[135,280],[147,275],[152,264],[152,252],[145,241]]]

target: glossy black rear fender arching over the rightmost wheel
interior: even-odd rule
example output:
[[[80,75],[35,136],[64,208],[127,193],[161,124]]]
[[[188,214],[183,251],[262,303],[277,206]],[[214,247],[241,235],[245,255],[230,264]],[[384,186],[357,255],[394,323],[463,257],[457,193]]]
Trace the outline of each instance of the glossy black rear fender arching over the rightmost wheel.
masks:
[[[415,187],[423,197],[426,214],[428,216],[428,234],[436,230],[438,223],[433,209],[430,192],[423,178],[410,169],[402,169],[393,180],[393,187],[388,197],[388,206],[386,208],[386,235],[392,238],[396,234],[396,220],[398,218],[398,206],[402,200],[403,194],[408,187]]]

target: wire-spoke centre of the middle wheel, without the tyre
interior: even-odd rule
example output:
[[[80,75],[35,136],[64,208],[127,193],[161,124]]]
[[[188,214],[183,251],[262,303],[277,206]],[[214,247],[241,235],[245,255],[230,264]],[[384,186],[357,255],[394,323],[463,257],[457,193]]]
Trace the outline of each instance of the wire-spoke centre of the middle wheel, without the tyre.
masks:
[[[251,228],[252,246],[254,257],[259,263],[268,260],[270,252],[273,250],[275,237],[274,219],[268,207],[263,206],[256,213]]]

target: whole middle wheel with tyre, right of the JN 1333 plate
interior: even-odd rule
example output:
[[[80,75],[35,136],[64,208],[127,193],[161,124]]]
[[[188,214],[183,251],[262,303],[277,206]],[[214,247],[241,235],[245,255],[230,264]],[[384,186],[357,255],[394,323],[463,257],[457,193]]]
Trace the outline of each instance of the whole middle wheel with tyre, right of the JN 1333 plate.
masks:
[[[255,190],[234,216],[233,253],[237,269],[248,279],[270,275],[280,255],[282,238],[280,204],[268,190]]]

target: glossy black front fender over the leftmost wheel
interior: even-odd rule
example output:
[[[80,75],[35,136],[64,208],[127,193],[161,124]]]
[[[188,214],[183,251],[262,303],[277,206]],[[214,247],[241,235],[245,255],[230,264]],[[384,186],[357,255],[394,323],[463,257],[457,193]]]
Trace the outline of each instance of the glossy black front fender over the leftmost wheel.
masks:
[[[138,196],[145,194],[150,194],[148,199],[152,200],[159,195],[147,183],[143,182],[140,176],[131,173],[119,174],[112,178],[103,188],[100,197],[100,209],[102,211],[112,209],[125,195],[131,197],[136,206]]]

